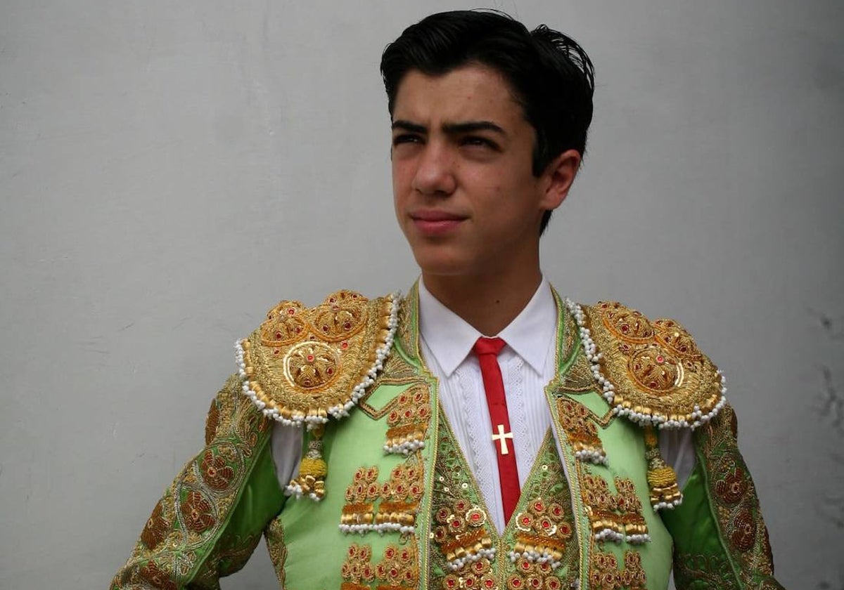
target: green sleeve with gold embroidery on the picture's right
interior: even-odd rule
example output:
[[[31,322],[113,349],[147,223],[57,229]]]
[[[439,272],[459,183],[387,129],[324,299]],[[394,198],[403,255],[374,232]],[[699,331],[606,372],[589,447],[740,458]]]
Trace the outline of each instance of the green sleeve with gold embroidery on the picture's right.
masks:
[[[683,503],[663,511],[674,537],[674,582],[685,588],[774,589],[774,564],[753,480],[725,405],[695,431],[695,469]]]

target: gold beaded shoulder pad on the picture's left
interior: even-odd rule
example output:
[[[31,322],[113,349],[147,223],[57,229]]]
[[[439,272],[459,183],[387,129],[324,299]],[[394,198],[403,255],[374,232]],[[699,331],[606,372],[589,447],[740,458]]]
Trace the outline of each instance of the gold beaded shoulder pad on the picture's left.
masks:
[[[390,353],[398,303],[398,293],[367,299],[352,291],[315,308],[282,301],[235,343],[243,393],[286,425],[348,416]]]

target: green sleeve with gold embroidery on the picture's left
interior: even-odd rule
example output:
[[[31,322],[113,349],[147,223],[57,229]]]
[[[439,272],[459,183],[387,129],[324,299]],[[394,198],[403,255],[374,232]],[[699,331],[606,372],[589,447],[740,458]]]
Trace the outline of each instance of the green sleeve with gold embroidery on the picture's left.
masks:
[[[220,577],[240,570],[284,503],[270,432],[230,378],[208,411],[205,448],[155,505],[111,590],[219,588]]]

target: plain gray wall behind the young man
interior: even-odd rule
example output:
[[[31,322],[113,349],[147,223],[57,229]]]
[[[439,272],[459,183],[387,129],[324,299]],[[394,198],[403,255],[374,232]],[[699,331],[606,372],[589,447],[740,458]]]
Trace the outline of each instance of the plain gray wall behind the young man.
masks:
[[[686,324],[780,579],[841,587],[844,4],[494,4],[597,64],[545,273]],[[413,281],[377,63],[445,8],[0,2],[0,587],[106,587],[273,303]]]

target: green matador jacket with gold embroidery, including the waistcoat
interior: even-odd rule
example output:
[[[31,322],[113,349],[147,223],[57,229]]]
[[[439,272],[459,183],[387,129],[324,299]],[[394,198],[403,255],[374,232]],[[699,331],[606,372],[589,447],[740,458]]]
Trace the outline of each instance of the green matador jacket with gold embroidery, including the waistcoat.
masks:
[[[241,341],[205,448],[111,587],[219,587],[262,534],[295,590],[663,588],[672,565],[678,588],[780,587],[717,369],[672,320],[559,309],[551,436],[501,534],[421,359],[415,289],[400,305],[338,292],[279,303]],[[286,491],[273,419],[311,426]],[[695,428],[682,503],[661,423]]]

